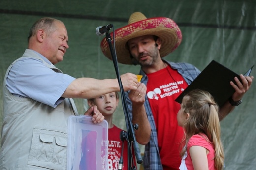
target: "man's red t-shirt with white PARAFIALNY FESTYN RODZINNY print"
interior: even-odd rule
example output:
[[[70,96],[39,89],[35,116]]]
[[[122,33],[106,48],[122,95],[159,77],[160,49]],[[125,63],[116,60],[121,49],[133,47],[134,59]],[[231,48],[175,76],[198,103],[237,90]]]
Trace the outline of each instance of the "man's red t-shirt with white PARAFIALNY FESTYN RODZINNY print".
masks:
[[[180,104],[175,99],[187,88],[184,78],[170,66],[147,74],[147,96],[155,119],[158,146],[164,170],[179,170],[180,142],[184,135],[178,126]]]

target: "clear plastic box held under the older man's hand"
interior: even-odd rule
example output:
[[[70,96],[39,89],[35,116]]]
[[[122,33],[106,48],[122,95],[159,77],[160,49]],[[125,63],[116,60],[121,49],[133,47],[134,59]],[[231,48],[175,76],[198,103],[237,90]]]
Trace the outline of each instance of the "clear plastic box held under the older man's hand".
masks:
[[[67,170],[107,170],[108,123],[91,116],[68,118]]]

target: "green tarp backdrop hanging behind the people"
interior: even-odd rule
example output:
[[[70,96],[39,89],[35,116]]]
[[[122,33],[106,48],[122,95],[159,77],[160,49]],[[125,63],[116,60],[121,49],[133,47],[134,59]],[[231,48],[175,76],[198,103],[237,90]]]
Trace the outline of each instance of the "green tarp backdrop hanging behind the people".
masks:
[[[200,70],[215,60],[237,74],[256,64],[256,0],[0,0],[0,130],[5,71],[27,48],[29,29],[37,19],[54,17],[66,25],[69,49],[56,65],[64,73],[76,78],[116,78],[113,62],[100,50],[104,36],[97,36],[95,30],[106,24],[120,28],[136,11],[148,18],[169,17],[180,26],[182,43],[164,57],[167,60],[189,62]],[[139,66],[119,64],[119,71],[137,74]],[[75,99],[75,103],[83,114],[86,100]],[[125,129],[122,103],[114,123]],[[256,169],[255,80],[221,128],[225,170]]]

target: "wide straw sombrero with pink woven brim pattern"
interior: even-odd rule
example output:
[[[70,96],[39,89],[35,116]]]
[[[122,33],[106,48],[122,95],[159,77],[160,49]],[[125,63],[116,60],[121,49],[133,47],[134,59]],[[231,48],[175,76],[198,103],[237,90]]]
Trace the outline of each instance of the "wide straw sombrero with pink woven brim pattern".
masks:
[[[132,64],[130,53],[126,47],[128,40],[143,36],[156,35],[161,40],[160,56],[173,52],[181,43],[182,34],[178,25],[166,17],[146,18],[141,12],[131,14],[128,25],[115,30],[115,47],[117,61],[122,64]],[[110,33],[113,37],[113,32]],[[112,39],[113,43],[113,39]],[[106,38],[100,44],[103,54],[112,60]]]

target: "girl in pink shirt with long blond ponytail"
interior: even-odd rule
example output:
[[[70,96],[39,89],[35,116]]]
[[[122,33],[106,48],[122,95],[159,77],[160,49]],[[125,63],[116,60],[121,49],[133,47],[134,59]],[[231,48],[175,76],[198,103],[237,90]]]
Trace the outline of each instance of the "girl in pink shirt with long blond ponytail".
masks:
[[[180,170],[222,170],[224,151],[221,142],[219,107],[207,91],[186,94],[177,114],[184,128]]]

